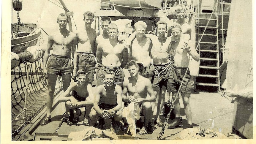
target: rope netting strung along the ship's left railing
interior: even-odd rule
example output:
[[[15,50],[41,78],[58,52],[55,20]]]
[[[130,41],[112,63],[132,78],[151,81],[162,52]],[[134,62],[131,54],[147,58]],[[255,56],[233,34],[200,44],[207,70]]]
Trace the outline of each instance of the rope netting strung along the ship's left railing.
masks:
[[[48,91],[42,58],[34,63],[21,63],[11,71],[12,138],[45,107]],[[54,96],[62,90],[61,78]]]

